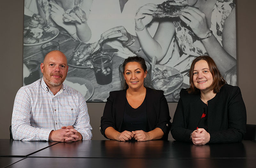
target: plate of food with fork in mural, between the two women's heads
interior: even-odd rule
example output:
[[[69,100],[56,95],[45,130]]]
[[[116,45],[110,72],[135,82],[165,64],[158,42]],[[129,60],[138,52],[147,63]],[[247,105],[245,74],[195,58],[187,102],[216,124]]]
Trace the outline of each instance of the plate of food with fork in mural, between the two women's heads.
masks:
[[[151,85],[157,90],[163,90],[164,95],[171,94],[182,85],[183,76],[175,68],[157,64],[153,73]]]

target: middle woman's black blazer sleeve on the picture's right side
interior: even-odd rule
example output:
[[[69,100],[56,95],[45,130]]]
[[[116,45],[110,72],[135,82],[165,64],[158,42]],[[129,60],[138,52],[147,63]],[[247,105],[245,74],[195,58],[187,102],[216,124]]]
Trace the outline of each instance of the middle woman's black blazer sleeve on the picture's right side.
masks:
[[[156,128],[160,128],[164,132],[164,136],[161,139],[166,139],[166,140],[168,139],[168,134],[171,128],[170,120],[171,120],[171,117],[169,113],[168,103],[164,96],[164,91],[161,91],[160,111],[159,111],[159,117],[156,124]]]

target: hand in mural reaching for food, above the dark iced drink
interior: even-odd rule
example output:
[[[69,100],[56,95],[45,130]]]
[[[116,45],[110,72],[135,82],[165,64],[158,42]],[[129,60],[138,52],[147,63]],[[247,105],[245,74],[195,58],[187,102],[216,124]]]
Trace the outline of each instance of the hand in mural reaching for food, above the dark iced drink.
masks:
[[[130,46],[132,41],[132,35],[126,31],[124,26],[117,26],[104,32],[101,37],[106,39],[116,38],[121,41],[124,46]]]

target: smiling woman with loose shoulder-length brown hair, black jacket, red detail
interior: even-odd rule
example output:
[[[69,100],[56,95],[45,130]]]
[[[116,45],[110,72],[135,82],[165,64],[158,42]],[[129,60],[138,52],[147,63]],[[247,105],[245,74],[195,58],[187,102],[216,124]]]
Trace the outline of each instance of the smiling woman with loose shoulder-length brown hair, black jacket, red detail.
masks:
[[[227,84],[209,56],[192,62],[189,77],[173,117],[173,138],[196,145],[242,141],[246,110],[240,89]]]

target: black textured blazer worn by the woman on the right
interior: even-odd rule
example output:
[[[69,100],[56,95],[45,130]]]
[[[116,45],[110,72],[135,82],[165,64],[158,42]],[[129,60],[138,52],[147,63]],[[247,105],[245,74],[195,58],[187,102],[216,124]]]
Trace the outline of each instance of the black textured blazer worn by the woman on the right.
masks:
[[[188,94],[181,89],[171,133],[175,140],[189,142],[203,114],[199,94]],[[202,107],[202,106],[200,106]],[[208,101],[207,111],[209,143],[240,142],[246,131],[246,110],[240,88],[225,84],[220,92]]]

